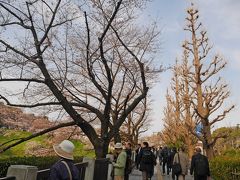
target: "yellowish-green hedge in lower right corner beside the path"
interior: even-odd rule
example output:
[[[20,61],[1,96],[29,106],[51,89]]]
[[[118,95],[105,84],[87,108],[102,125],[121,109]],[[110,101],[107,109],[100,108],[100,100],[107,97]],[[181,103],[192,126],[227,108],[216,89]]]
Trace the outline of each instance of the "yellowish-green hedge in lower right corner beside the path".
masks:
[[[240,172],[240,157],[219,156],[210,162],[211,176],[217,180],[232,179],[231,173],[237,169]]]

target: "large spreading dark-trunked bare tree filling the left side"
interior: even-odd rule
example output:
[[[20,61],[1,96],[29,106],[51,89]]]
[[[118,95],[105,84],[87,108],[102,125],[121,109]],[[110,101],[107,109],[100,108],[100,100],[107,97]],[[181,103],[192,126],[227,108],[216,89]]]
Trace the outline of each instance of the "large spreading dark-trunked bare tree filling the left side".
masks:
[[[65,126],[78,125],[96,156],[104,157],[149,89],[149,57],[158,48],[159,31],[156,24],[140,28],[134,23],[136,8],[145,2],[0,1],[0,82],[22,87],[14,93],[9,86],[1,88],[1,100],[62,112],[73,120]]]

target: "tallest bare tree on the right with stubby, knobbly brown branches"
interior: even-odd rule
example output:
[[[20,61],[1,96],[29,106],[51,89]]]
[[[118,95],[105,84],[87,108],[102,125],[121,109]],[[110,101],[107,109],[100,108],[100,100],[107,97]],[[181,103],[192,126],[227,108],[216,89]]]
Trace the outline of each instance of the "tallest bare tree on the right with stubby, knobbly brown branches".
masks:
[[[234,106],[225,109],[222,106],[230,95],[227,84],[218,77],[218,73],[225,68],[226,61],[219,55],[208,58],[212,46],[209,45],[207,33],[202,30],[198,18],[197,9],[191,7],[187,10],[185,30],[190,32],[191,38],[185,41],[183,48],[189,52],[192,68],[185,76],[189,78],[189,87],[194,92],[191,104],[203,126],[202,136],[193,133],[203,141],[207,156],[212,158],[213,146],[221,136],[212,138],[211,127],[223,120]]]

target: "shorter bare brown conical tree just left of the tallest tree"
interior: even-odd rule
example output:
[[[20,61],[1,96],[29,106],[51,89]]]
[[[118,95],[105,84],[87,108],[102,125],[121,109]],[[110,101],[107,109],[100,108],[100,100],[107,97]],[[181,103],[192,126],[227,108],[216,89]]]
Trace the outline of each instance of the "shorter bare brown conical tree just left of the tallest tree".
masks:
[[[183,58],[185,58],[185,55]],[[182,66],[182,64],[178,64],[178,61],[176,61],[172,68],[171,95],[168,91],[166,95],[167,105],[164,109],[164,129],[161,132],[161,136],[166,144],[186,146],[191,156],[193,154],[194,138],[189,130],[188,104],[184,103],[187,98],[187,91],[184,89],[184,79],[181,76]]]

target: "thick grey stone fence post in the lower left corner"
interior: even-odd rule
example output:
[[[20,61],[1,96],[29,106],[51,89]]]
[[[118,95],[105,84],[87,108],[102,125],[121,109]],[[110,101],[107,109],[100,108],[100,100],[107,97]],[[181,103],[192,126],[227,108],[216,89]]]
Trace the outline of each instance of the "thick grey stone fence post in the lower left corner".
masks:
[[[37,170],[36,166],[11,165],[7,176],[15,176],[17,180],[36,180]]]

